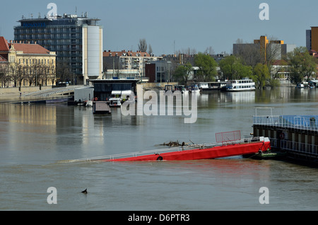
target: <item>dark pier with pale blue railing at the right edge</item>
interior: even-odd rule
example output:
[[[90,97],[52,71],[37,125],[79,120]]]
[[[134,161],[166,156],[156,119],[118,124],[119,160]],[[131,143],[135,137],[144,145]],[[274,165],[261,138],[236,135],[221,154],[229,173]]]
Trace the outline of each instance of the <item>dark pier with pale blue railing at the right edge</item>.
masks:
[[[318,163],[317,115],[272,115],[272,110],[269,115],[256,113],[253,116],[253,135],[269,137],[273,151],[283,151],[290,158]]]

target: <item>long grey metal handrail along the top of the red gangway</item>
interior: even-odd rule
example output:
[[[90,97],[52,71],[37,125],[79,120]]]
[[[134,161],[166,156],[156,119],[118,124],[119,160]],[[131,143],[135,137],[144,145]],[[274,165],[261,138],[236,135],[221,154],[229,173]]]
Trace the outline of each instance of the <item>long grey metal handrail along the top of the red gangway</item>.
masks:
[[[264,137],[249,137],[241,140],[230,141],[230,142],[213,142],[213,143],[205,143],[205,144],[192,144],[192,145],[185,145],[185,146],[176,146],[170,148],[163,148],[163,149],[153,149],[153,150],[146,150],[146,151],[135,151],[130,153],[124,154],[114,154],[108,156],[98,156],[98,157],[91,157],[91,158],[78,158],[66,161],[59,161],[60,163],[76,163],[76,162],[83,162],[83,161],[112,161],[116,158],[129,158],[129,157],[137,157],[137,156],[146,156],[150,154],[162,154],[172,151],[187,151],[193,149],[208,149],[215,146],[228,146],[233,144],[248,144],[251,142],[261,142],[264,141]]]

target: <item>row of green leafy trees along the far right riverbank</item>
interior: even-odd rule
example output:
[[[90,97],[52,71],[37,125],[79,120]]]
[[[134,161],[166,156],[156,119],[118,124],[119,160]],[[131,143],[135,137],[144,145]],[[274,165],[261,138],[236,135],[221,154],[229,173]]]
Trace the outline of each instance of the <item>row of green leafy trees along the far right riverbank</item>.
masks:
[[[277,45],[276,45],[277,46]],[[278,86],[278,73],[271,74],[276,55],[281,54],[273,45],[266,49],[266,60],[262,60],[257,48],[246,49],[238,55],[227,55],[219,63],[211,57],[211,54],[201,53],[194,55],[193,63],[187,62],[176,67],[173,72],[173,79],[187,85],[189,79],[194,82],[215,81],[216,78],[223,80],[232,79],[253,79],[257,88],[266,86]],[[289,73],[290,82],[298,84],[303,80],[316,77],[317,59],[310,55],[306,47],[296,47],[293,52],[288,52],[281,60],[282,66],[276,71],[286,71]],[[192,67],[198,67],[196,73]],[[220,67],[219,72],[216,67]]]

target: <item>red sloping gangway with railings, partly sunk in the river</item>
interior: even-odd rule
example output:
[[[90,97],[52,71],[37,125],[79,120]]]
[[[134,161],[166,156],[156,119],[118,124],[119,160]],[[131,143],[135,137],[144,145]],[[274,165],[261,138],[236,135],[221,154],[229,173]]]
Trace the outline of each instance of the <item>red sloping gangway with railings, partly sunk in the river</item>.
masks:
[[[237,135],[239,134],[239,135]],[[247,154],[259,154],[271,149],[268,137],[251,137],[237,139],[240,132],[223,132],[216,134],[220,142],[207,144],[192,144],[171,147],[167,149],[155,149],[149,151],[136,151],[128,154],[116,154],[112,156],[100,156],[95,158],[83,158],[75,161],[181,161],[211,158],[224,158]],[[218,139],[218,137],[220,137]]]

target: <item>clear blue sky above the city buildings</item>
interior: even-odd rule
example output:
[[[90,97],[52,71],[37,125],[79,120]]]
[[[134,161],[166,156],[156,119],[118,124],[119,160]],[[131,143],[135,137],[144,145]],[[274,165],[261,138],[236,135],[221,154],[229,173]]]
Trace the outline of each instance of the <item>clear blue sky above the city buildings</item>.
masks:
[[[237,39],[253,42],[261,35],[306,46],[306,30],[318,26],[317,0],[15,0],[1,4],[0,35],[14,40],[22,16],[43,18],[51,2],[59,15],[99,18],[103,50],[136,51],[144,38],[157,56],[207,47],[230,54]],[[261,3],[269,6],[269,20],[259,18]]]

